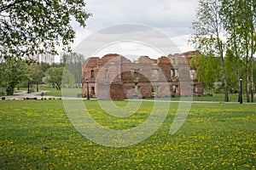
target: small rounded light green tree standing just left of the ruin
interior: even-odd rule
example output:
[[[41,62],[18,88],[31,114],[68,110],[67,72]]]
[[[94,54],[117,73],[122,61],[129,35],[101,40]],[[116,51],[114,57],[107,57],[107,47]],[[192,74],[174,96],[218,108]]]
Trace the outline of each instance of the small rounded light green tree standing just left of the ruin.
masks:
[[[61,85],[73,87],[74,77],[70,71],[67,71],[63,67],[50,67],[45,72],[45,82],[49,82],[53,88],[61,90]]]

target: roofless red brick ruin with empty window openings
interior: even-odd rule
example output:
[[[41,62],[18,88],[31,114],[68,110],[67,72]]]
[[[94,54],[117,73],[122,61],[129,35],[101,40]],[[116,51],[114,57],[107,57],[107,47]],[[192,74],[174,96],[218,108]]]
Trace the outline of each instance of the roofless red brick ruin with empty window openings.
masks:
[[[82,72],[82,94],[97,99],[131,99],[169,96],[201,96],[202,82],[189,61],[196,51],[131,62],[119,54],[86,59]],[[88,87],[87,87],[88,86]]]

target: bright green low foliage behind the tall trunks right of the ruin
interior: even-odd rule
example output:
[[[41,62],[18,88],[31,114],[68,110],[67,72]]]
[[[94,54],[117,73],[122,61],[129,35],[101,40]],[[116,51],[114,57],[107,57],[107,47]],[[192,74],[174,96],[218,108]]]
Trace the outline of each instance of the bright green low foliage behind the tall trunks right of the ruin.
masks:
[[[240,59],[240,68],[236,66],[236,59],[232,52],[228,53],[224,57],[224,65],[226,78],[228,83],[228,89],[230,94],[240,93],[240,81],[242,81],[242,92],[246,92],[246,71],[245,62]],[[205,94],[224,94],[224,81],[219,65],[219,58],[210,55],[195,55],[190,60],[190,66],[196,68],[196,77],[203,82]],[[237,71],[241,71],[239,80],[237,80]],[[241,79],[241,80],[240,80]],[[256,59],[253,60],[253,89],[256,88]],[[239,96],[238,96],[239,101]]]

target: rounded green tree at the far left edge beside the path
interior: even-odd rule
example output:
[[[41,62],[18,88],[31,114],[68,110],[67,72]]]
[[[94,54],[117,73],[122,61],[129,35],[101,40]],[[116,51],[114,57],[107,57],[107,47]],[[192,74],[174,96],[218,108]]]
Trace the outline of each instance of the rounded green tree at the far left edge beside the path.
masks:
[[[15,86],[24,80],[29,80],[31,73],[32,70],[24,59],[17,61],[6,59],[0,65],[1,85],[7,88],[8,95],[13,95]]]

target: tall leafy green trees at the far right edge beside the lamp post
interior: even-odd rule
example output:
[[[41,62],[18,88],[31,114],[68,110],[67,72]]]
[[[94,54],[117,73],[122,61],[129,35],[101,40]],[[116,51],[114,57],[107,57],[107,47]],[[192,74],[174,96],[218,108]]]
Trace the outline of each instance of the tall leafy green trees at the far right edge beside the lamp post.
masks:
[[[221,14],[224,29],[229,33],[229,46],[235,51],[238,60],[245,60],[247,102],[253,102],[253,54],[255,53],[255,1],[253,0],[221,0]],[[239,68],[237,67],[236,68]],[[238,70],[239,71],[239,70]],[[237,78],[239,79],[237,74]],[[239,82],[239,81],[237,81]]]

